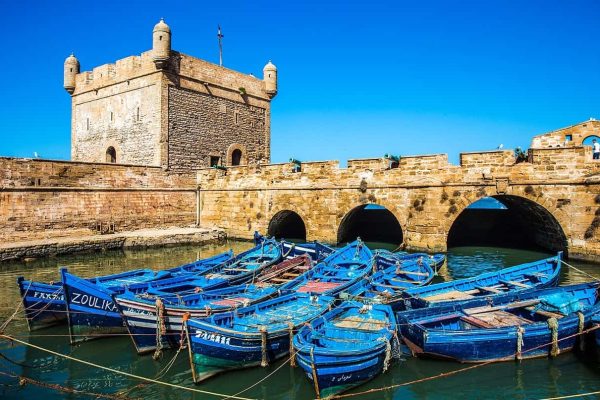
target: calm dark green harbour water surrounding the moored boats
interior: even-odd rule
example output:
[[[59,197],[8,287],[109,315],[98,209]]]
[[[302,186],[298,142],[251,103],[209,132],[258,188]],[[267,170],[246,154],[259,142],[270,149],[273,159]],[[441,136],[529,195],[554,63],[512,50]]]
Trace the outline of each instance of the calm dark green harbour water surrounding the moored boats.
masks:
[[[29,263],[15,262],[0,264],[0,287],[4,295],[0,298],[0,320],[4,321],[19,303],[15,284],[19,275],[34,280],[58,279],[58,268],[67,266],[78,275],[90,277],[100,274],[125,271],[135,268],[167,268],[233,248],[238,252],[250,246],[247,242],[230,242],[222,246],[183,246],[166,249],[137,251],[107,251],[98,254],[71,255],[36,260]],[[448,263],[436,280],[459,279],[505,266],[533,261],[547,254],[490,247],[454,248],[448,254]],[[573,262],[576,267],[600,276],[600,265]],[[564,269],[562,283],[590,280],[573,270]],[[115,337],[70,346],[66,327],[57,327],[29,334],[25,321],[19,315],[7,329],[8,333],[24,338],[31,343],[93,361],[117,370],[137,375],[155,377],[165,364],[173,358],[174,351],[167,351],[163,359],[156,362],[150,356],[138,356],[127,337]],[[133,398],[144,399],[205,399],[206,395],[192,394],[158,385],[134,386],[134,382],[115,373],[82,366],[73,361],[49,355],[24,346],[0,343],[0,372],[8,372],[57,383],[78,390],[94,393],[115,394],[127,391]],[[573,353],[563,354],[556,359],[526,360],[521,363],[506,362],[488,365],[475,370],[461,372],[433,381],[415,383],[390,391],[358,396],[360,399],[539,399],[574,393],[600,390],[600,364],[595,357],[582,357]],[[19,363],[21,365],[15,364]],[[162,380],[178,385],[195,387],[223,394],[234,394],[268,374],[273,373],[281,362],[268,368],[254,368],[231,372],[209,380],[201,386],[192,383],[188,368],[188,356],[181,352],[171,369]],[[355,391],[401,384],[416,379],[449,372],[463,365],[423,359],[406,358],[397,361],[385,374]],[[81,395],[64,394],[55,390],[31,385],[19,387],[13,378],[0,376],[0,398],[81,398]],[[312,399],[314,391],[299,368],[285,365],[269,379],[242,394],[248,398],[261,399]],[[219,397],[214,397],[219,398]]]

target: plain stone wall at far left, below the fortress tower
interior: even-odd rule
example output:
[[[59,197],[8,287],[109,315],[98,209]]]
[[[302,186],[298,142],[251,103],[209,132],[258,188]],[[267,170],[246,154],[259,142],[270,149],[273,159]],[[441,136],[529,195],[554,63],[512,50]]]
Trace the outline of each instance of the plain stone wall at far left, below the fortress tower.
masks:
[[[194,177],[161,168],[0,158],[0,238],[196,221]]]

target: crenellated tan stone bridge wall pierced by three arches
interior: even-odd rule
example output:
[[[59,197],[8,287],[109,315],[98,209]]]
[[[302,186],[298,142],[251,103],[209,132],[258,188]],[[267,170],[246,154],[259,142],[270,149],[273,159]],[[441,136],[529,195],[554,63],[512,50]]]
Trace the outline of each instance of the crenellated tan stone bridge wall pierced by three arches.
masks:
[[[572,256],[600,257],[600,163],[584,147],[533,149],[532,162],[515,164],[511,150],[402,157],[389,169],[382,159],[201,170],[201,224],[250,238],[266,231],[275,214],[300,215],[307,239],[335,242],[343,218],[358,206],[387,208],[410,249],[440,251],[452,224],[476,200],[495,196],[535,230],[548,249],[564,244]],[[600,211],[598,211],[600,214]]]

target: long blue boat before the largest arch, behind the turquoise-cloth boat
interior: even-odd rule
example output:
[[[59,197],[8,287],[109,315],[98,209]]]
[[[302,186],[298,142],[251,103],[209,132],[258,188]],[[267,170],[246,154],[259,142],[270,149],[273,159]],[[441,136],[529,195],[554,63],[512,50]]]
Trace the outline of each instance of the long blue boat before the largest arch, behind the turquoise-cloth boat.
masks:
[[[390,303],[396,309],[436,307],[457,304],[478,297],[493,297],[507,292],[539,289],[558,283],[562,252],[556,256],[520,264],[472,278],[410,288],[401,299]]]

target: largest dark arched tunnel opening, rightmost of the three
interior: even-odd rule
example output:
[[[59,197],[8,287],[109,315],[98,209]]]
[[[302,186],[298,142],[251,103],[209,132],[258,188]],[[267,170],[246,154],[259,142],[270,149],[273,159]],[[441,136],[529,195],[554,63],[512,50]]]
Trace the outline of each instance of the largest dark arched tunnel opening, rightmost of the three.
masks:
[[[448,233],[448,248],[493,246],[567,251],[567,237],[556,218],[519,196],[485,197],[467,207]]]

